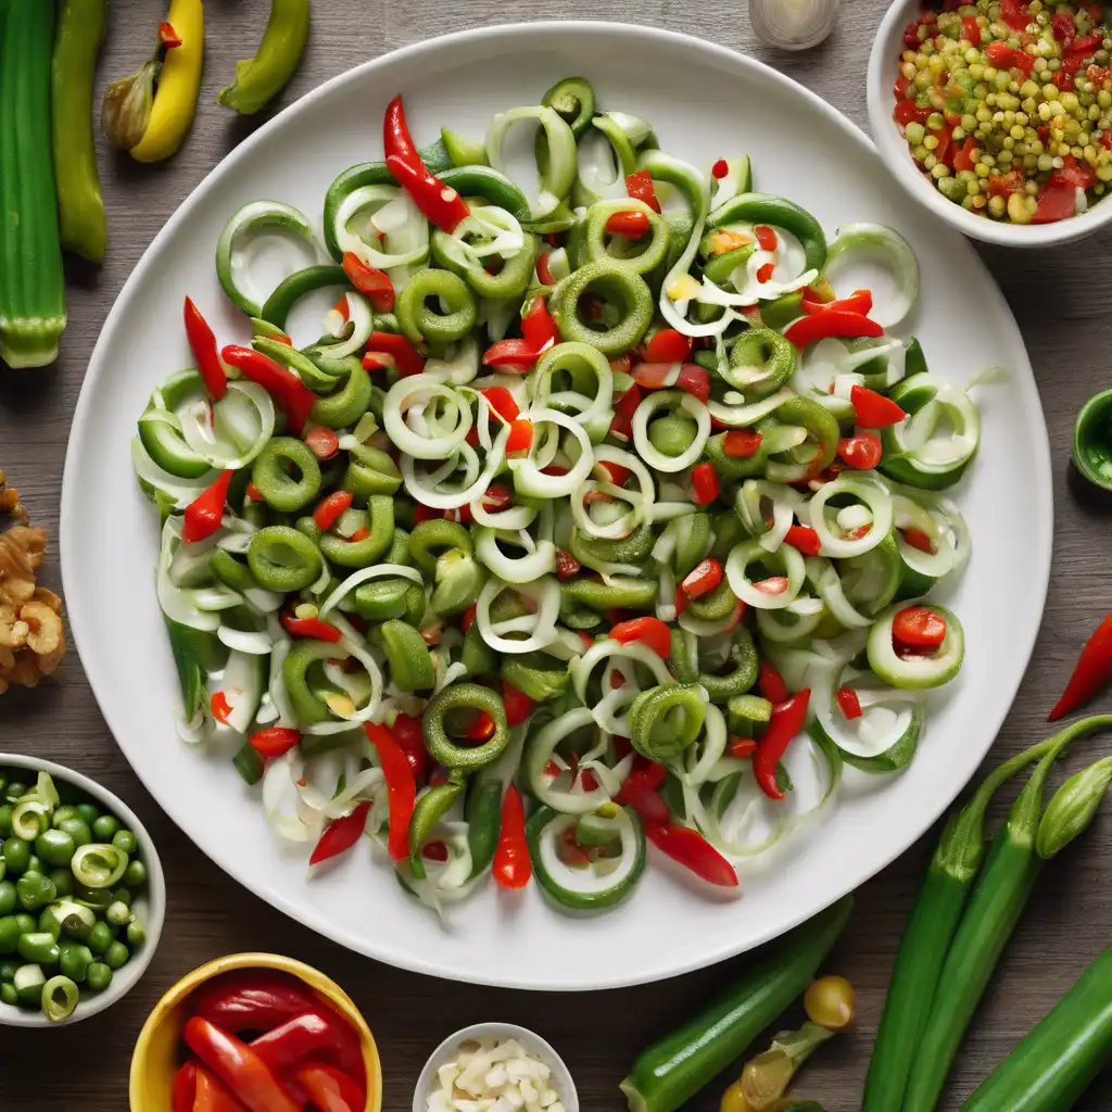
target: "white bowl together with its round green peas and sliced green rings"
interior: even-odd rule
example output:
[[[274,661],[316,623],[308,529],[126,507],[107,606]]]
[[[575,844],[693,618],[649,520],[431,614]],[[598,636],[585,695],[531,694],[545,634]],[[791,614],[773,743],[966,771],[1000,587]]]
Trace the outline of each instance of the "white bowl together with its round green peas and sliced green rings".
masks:
[[[49,761],[0,753],[0,1025],[87,1020],[142,976],[166,916],[135,813]]]

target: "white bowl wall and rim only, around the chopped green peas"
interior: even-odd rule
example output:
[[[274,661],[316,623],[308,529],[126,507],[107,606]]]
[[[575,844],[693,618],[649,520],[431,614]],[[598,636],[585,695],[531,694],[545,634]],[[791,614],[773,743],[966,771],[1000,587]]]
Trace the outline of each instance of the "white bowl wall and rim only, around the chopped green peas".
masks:
[[[162,922],[166,919],[166,877],[162,874],[162,863],[158,851],[146,827],[139,822],[135,812],[122,800],[117,798],[96,781],[82,776],[78,772],[54,764],[52,761],[40,761],[37,757],[23,756],[19,753],[0,753],[0,768],[28,768],[31,772],[47,772],[58,784],[68,784],[83,792],[111,812],[120,823],[130,830],[139,846],[139,856],[147,866],[147,883],[141,895],[136,897],[135,910],[142,922],[147,939],[133,957],[126,965],[113,970],[112,983],[99,993],[82,992],[81,1000],[73,1012],[64,1020],[52,1022],[41,1011],[17,1007],[13,1004],[0,1003],[0,1026],[9,1027],[62,1027],[70,1023],[80,1023],[92,1015],[111,1007],[118,1000],[126,996],[136,982],[143,975],[150,960],[158,949],[158,940],[162,934]],[[4,957],[3,961],[14,961]]]

